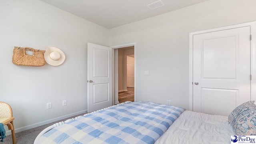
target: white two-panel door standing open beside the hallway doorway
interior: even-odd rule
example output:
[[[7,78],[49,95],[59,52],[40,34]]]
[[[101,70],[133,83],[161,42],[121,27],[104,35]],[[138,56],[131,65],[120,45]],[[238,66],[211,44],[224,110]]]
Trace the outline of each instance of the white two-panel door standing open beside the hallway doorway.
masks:
[[[112,48],[87,44],[88,112],[112,106]]]

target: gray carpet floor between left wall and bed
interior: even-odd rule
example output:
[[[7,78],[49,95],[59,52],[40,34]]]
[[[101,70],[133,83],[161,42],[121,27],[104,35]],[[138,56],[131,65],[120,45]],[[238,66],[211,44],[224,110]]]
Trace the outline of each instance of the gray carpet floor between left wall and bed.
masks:
[[[86,114],[86,113],[84,113],[84,114]],[[79,114],[79,115],[76,115],[76,116],[82,116],[84,114]],[[76,116],[72,116],[70,118],[75,118]],[[53,125],[57,122],[62,122],[62,121],[68,120],[70,118],[65,118],[63,120],[52,122],[50,124],[46,124],[46,125],[43,125],[43,126],[38,126],[36,128],[32,128],[32,129],[29,129],[29,130],[18,132],[18,133],[15,134],[16,144],[33,144],[34,140],[36,139],[36,136],[42,130],[44,130],[48,126],[51,126],[51,125]],[[15,120],[14,120],[14,127],[15,127]],[[4,142],[0,142],[0,144],[12,144],[12,135],[6,136],[6,138],[4,138]]]

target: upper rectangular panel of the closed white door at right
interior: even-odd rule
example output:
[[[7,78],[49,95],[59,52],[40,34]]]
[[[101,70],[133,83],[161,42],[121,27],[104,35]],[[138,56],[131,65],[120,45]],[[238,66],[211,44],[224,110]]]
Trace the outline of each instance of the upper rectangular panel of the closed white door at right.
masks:
[[[238,36],[203,40],[203,78],[236,78]]]

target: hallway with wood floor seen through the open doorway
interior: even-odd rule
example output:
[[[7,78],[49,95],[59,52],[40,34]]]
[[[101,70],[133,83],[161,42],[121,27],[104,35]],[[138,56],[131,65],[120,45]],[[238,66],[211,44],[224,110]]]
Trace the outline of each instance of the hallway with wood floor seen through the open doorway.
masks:
[[[134,102],[134,46],[118,48],[118,102]]]

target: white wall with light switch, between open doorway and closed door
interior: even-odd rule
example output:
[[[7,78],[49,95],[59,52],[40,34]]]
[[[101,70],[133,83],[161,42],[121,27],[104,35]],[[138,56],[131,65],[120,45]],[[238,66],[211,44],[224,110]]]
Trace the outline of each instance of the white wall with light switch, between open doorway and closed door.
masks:
[[[189,109],[189,33],[255,21],[255,6],[256,0],[209,0],[110,29],[110,46],[136,42],[137,101],[171,100]]]

